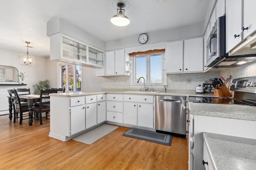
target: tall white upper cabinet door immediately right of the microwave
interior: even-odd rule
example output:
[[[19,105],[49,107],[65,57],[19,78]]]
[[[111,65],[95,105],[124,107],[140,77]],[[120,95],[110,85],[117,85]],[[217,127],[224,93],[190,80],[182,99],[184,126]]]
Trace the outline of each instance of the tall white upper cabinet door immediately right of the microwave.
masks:
[[[253,8],[253,7],[252,7]],[[241,42],[242,0],[226,0],[226,52]],[[234,35],[239,37],[234,38]]]

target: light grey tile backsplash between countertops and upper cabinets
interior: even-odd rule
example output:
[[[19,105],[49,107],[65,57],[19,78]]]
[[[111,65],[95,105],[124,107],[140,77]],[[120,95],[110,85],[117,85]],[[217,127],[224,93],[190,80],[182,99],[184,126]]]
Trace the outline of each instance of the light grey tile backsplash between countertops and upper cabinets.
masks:
[[[175,92],[186,90],[187,92],[196,92],[196,86],[202,85],[210,78],[223,76],[234,78],[256,76],[256,62],[244,66],[234,68],[212,68],[206,73],[182,73],[182,74],[167,74],[167,91]],[[191,83],[186,83],[186,79],[191,79]],[[118,84],[116,84],[118,80]],[[230,80],[230,82],[231,82]],[[105,76],[103,77],[103,89],[126,89],[130,88],[130,76]],[[162,91],[163,88],[154,88],[155,91]]]

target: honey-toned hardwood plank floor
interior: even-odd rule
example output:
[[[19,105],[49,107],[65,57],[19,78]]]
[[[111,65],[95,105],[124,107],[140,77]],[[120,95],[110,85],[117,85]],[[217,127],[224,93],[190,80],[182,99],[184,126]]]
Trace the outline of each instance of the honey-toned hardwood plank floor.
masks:
[[[172,145],[160,145],[122,136],[118,127],[92,145],[48,137],[50,119],[43,125],[28,119],[19,125],[0,115],[0,169],[66,170],[187,170],[187,140],[173,137]]]

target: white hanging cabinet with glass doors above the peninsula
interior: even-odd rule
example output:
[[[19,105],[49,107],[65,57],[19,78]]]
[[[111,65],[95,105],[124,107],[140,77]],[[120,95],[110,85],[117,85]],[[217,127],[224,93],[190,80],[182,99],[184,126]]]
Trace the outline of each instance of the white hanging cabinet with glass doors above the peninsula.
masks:
[[[93,68],[104,67],[104,51],[62,33],[50,37],[50,59]]]

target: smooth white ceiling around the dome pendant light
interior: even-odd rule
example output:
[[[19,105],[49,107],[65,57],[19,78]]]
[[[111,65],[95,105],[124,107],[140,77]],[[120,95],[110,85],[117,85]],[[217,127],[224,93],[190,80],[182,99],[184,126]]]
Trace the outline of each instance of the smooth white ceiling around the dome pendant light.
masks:
[[[210,0],[1,0],[0,49],[35,57],[50,56],[46,23],[63,18],[76,27],[112,41],[204,21]],[[116,4],[125,1],[124,14],[130,24],[118,27],[110,22]]]

